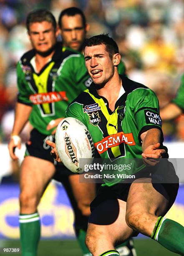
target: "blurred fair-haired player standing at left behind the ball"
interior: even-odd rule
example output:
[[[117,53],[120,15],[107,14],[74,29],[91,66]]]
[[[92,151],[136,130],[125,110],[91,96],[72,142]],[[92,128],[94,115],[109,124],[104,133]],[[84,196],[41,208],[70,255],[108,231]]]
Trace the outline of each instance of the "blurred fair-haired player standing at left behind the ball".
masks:
[[[54,140],[55,129],[51,126],[64,117],[68,104],[86,89],[89,77],[83,55],[56,42],[58,29],[49,11],[31,12],[26,26],[33,49],[26,52],[17,65],[19,93],[9,151],[11,158],[17,159],[14,149],[20,148],[19,134],[29,120],[33,130],[21,166],[19,220],[23,256],[35,256],[40,239],[37,207],[55,170],[58,171],[56,179],[62,181],[71,200],[82,248],[86,248],[85,230],[95,185],[79,184],[78,175],[63,165],[56,165],[45,142],[48,138]]]

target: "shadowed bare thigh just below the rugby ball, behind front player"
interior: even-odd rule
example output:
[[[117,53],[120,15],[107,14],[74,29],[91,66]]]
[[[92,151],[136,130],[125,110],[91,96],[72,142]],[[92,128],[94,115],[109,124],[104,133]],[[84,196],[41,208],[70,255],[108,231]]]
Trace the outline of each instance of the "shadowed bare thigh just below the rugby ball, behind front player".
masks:
[[[83,175],[83,174],[80,174]],[[96,196],[95,183],[81,183],[80,175],[72,174],[68,177],[73,195],[79,204],[89,206]]]

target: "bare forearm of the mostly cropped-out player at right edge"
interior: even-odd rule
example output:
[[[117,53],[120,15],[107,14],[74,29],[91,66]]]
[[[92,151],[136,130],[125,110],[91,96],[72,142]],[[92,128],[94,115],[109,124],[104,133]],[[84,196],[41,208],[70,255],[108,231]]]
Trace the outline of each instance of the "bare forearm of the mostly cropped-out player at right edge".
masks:
[[[162,120],[171,120],[181,115],[182,110],[176,104],[170,102],[160,110]]]

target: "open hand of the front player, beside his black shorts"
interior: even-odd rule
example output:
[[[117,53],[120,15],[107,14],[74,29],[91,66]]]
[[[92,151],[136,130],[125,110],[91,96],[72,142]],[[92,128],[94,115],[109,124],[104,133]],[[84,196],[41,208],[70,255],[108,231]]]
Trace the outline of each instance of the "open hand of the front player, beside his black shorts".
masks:
[[[148,146],[142,153],[143,161],[146,165],[155,166],[164,154],[165,149],[160,149],[160,143]]]

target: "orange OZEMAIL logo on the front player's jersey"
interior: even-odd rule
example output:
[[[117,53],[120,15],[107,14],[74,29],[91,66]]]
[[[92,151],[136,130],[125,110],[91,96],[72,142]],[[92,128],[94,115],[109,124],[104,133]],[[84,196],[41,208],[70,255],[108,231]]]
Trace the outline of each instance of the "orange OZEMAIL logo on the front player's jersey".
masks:
[[[119,146],[121,143],[128,144],[129,146],[136,145],[133,133],[116,133],[103,138],[101,141],[94,143],[99,154],[107,151],[108,148]]]

